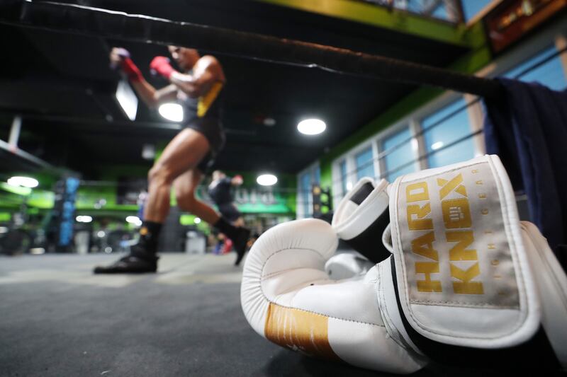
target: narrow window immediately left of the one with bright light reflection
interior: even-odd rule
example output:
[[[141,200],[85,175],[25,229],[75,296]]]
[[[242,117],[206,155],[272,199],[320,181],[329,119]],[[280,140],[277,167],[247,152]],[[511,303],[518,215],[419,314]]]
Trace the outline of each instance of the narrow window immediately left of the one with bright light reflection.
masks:
[[[386,175],[382,178],[393,182],[398,176],[415,171],[413,163],[415,157],[412,152],[411,134],[408,127],[383,139],[382,150],[388,153],[383,158]]]

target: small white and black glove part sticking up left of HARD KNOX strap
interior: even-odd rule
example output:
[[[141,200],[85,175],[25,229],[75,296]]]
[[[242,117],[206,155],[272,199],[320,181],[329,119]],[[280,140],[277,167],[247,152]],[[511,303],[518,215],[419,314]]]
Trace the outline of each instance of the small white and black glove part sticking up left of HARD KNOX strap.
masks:
[[[374,263],[390,256],[381,235],[390,223],[388,181],[361,178],[342,198],[332,216],[332,228],[351,248]]]

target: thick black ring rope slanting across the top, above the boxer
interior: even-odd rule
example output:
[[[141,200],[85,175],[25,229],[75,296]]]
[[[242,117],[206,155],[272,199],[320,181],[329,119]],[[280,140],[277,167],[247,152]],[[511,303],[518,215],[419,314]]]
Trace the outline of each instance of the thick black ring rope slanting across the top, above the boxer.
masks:
[[[486,98],[495,98],[501,93],[500,84],[492,79],[447,69],[310,42],[89,6],[9,0],[0,4],[0,22],[64,33],[191,47],[212,53],[220,52],[247,59],[324,69],[368,79],[434,86]]]

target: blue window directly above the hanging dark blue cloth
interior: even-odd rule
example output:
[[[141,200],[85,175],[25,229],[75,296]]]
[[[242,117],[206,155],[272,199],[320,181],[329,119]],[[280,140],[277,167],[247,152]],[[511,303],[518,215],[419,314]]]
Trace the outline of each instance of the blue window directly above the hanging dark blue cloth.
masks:
[[[549,59],[557,50],[551,46],[544,51],[515,66],[510,71],[507,71],[504,76],[509,79],[518,79],[520,81],[530,82],[537,81],[541,85],[545,85],[554,91],[562,91],[567,88],[567,81],[561,65],[559,56]],[[544,62],[546,59],[549,61]],[[540,64],[534,69],[529,69],[532,66]],[[527,71],[528,70],[528,71]]]

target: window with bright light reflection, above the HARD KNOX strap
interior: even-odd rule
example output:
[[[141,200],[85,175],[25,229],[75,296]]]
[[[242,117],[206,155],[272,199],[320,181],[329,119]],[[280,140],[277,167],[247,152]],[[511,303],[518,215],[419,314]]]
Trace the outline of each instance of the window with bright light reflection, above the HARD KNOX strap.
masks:
[[[469,137],[472,131],[464,100],[457,100],[425,117],[421,125],[425,130],[423,139],[430,168],[474,157],[473,138]]]

